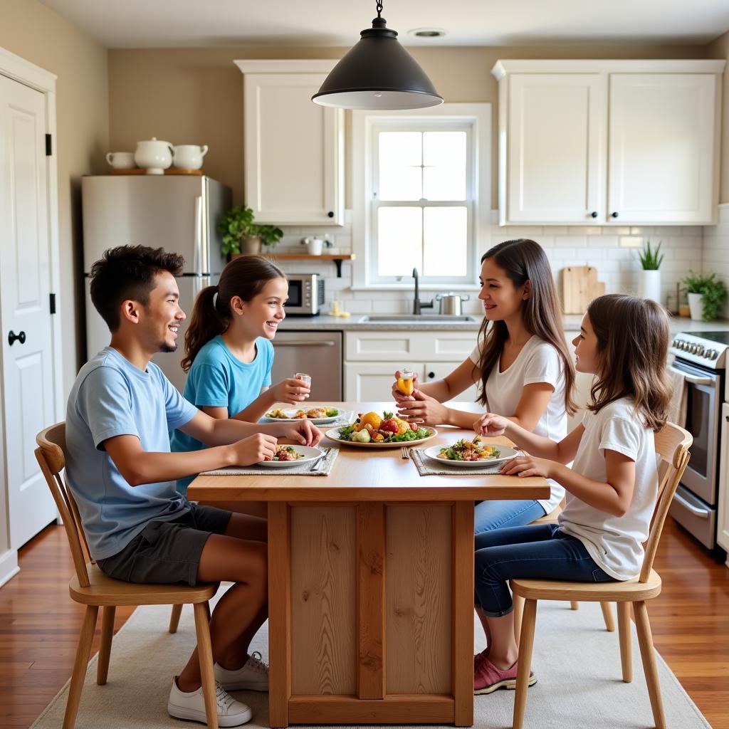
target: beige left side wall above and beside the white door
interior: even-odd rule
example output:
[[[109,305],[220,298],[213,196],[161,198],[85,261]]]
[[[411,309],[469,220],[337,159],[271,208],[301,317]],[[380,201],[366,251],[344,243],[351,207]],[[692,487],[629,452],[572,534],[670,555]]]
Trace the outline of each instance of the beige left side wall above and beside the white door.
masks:
[[[58,76],[58,227],[63,382],[82,362],[81,176],[104,170],[109,148],[107,52],[37,0],[0,0],[0,47]]]

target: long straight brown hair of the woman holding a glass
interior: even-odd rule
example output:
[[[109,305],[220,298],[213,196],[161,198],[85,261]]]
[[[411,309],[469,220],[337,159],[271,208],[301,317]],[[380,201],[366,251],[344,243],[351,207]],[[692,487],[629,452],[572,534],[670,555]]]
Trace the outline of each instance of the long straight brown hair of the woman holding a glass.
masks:
[[[558,351],[564,370],[564,407],[567,413],[572,415],[577,410],[572,399],[574,364],[567,354],[567,343],[560,323],[561,307],[547,254],[539,243],[529,238],[517,238],[488,249],[481,257],[481,264],[483,265],[489,258],[492,258],[499,268],[504,269],[504,273],[514,286],[523,286],[527,281],[531,282],[531,295],[522,302],[521,318],[528,332],[550,343]],[[491,370],[498,367],[504,343],[509,338],[505,321],[494,321],[491,327],[488,323],[484,318],[478,332],[478,338],[483,345],[477,365],[481,372],[482,383],[478,402],[487,408],[486,381]]]

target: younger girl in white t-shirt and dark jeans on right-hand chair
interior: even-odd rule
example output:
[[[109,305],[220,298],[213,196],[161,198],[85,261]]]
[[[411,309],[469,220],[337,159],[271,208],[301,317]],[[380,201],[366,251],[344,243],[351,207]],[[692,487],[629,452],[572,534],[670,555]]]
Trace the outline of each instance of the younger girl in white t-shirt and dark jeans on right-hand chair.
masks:
[[[476,537],[476,610],[488,647],[475,658],[475,693],[516,683],[512,577],[609,582],[639,574],[658,494],[653,434],[666,423],[671,397],[668,341],[668,317],[658,304],[601,296],[574,340],[577,371],[597,375],[582,423],[558,443],[491,413],[475,424],[531,454],[512,459],[502,473],[553,478],[567,491],[558,525]],[[573,460],[572,468],[564,465]],[[529,685],[534,681],[532,675]]]

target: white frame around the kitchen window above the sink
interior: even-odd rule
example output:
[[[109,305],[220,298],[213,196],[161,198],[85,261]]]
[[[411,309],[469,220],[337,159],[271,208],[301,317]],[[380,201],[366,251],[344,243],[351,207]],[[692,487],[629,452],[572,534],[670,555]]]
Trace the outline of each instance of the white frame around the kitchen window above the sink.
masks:
[[[352,267],[353,290],[410,291],[413,288],[410,276],[389,277],[384,281],[384,277],[377,275],[377,252],[371,243],[377,208],[372,195],[376,172],[375,130],[383,126],[412,130],[418,122],[433,120],[442,120],[443,130],[469,129],[472,154],[467,160],[469,179],[465,201],[469,208],[467,277],[437,280],[421,276],[421,289],[448,291],[458,287],[467,291],[479,288],[478,260],[488,248],[491,217],[491,104],[442,104],[405,112],[352,112],[352,252],[362,262],[362,265]]]

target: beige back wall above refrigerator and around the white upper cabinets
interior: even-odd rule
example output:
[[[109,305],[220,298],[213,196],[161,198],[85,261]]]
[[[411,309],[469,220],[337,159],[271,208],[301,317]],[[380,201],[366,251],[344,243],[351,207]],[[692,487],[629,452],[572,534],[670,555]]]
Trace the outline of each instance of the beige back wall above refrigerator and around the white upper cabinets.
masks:
[[[491,101],[492,200],[496,207],[496,79],[499,58],[706,58],[706,48],[668,45],[410,48],[445,101]],[[235,58],[340,58],[344,48],[230,47],[109,51],[109,139],[133,151],[156,136],[208,144],[205,171],[243,201],[243,79]],[[348,157],[350,155],[348,154]],[[728,172],[729,174],[729,172]],[[347,191],[346,203],[350,206]]]

